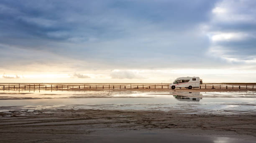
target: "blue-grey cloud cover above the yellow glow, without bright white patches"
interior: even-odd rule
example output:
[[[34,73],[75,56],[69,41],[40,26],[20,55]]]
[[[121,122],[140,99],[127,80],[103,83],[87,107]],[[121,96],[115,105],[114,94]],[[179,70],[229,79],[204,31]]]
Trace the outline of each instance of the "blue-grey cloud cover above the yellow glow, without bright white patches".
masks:
[[[29,64],[30,59],[44,51],[52,54],[38,54],[40,62],[59,62],[67,58],[110,65],[98,68],[156,68],[169,67],[169,63],[174,67],[205,67],[218,65],[214,59],[204,56],[211,46],[236,48],[233,51],[239,52],[248,44],[245,50],[248,52],[243,55],[254,53],[252,37],[248,42],[241,41],[243,46],[233,41],[211,44],[207,32],[255,29],[250,21],[216,19],[212,9],[221,2],[2,0],[0,49],[7,52],[2,53],[0,59],[8,59],[11,55],[12,59],[22,57],[26,59],[22,60],[23,64]],[[240,12],[252,15],[246,11],[246,8],[253,8],[252,4]],[[208,25],[209,30],[202,32],[200,25]],[[8,52],[11,47],[36,52],[31,56],[15,52],[15,56]],[[239,55],[238,52],[233,54]]]

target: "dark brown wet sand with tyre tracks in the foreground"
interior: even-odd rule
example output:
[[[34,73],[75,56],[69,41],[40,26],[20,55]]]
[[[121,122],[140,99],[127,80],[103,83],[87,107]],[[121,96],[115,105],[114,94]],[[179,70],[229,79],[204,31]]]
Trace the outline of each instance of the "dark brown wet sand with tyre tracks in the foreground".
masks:
[[[2,143],[256,141],[256,115],[182,113],[182,110],[12,111],[0,114],[0,138]]]

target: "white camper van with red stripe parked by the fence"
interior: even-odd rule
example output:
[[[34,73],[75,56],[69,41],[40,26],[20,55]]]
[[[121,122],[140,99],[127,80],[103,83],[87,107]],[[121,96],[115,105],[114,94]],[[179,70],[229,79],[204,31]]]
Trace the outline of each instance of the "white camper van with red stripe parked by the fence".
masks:
[[[170,88],[181,88],[185,87],[188,89],[192,89],[192,87],[200,86],[200,78],[199,77],[179,77],[174,80],[172,84],[169,85]]]

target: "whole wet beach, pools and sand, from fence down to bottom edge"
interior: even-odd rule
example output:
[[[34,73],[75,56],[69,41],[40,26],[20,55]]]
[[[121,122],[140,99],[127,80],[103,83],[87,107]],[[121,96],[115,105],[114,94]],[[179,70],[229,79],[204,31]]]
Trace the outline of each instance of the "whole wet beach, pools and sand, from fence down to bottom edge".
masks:
[[[3,143],[256,141],[249,90],[5,90],[0,99]]]

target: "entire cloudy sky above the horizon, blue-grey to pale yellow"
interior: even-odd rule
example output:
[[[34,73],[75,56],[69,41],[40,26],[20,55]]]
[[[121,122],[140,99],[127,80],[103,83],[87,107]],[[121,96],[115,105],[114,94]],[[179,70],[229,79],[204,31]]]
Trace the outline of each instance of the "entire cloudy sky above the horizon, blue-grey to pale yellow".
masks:
[[[256,82],[255,0],[1,0],[0,82]]]

